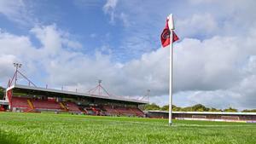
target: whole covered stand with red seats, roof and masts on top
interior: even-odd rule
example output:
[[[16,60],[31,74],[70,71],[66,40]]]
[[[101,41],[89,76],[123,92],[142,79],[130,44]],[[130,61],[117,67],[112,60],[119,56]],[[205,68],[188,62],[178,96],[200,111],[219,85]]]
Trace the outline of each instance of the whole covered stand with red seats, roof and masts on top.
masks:
[[[15,64],[15,66],[18,65],[20,64]],[[23,81],[22,84],[18,84],[17,78],[20,77],[27,81],[28,85]],[[50,89],[48,84],[46,87],[38,87],[16,68],[13,77],[9,79],[4,100],[0,100],[0,110],[143,117],[144,113],[137,108],[148,103],[143,98],[112,95],[102,87],[102,80],[98,81],[95,88],[83,93],[77,89],[76,91],[64,90],[63,87]]]

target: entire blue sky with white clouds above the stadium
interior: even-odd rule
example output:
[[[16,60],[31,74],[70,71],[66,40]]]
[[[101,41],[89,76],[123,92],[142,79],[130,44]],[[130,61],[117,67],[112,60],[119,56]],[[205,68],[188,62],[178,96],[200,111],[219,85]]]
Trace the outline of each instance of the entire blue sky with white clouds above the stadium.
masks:
[[[174,14],[174,104],[255,108],[255,2],[0,1],[0,84],[23,64],[35,84],[86,91],[102,79],[115,95],[151,89],[168,101],[168,49],[160,48]],[[20,79],[20,83],[24,83]]]

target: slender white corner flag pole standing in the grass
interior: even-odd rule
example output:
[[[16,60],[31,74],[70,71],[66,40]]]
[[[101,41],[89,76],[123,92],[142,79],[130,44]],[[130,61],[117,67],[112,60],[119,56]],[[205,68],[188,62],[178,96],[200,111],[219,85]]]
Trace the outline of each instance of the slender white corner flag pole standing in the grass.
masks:
[[[169,73],[169,125],[172,125],[172,64],[173,64],[173,49],[172,49],[172,40],[173,40],[173,30],[174,30],[174,25],[173,25],[173,18],[172,14],[169,15],[168,17],[168,26],[170,29],[170,73]]]

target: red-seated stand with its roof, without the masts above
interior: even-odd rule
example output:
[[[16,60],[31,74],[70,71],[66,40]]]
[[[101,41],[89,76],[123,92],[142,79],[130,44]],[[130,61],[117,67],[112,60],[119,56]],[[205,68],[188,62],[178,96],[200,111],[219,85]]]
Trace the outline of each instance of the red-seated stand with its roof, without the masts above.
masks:
[[[14,85],[9,92],[12,112],[72,112],[88,115],[144,117],[146,102],[69,91]],[[61,95],[61,96],[59,96]]]

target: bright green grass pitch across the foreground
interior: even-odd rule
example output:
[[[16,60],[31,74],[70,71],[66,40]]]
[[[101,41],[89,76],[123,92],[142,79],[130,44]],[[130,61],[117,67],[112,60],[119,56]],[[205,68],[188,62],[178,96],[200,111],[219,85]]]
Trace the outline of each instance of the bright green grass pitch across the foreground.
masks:
[[[0,143],[256,143],[256,124],[0,112]]]

